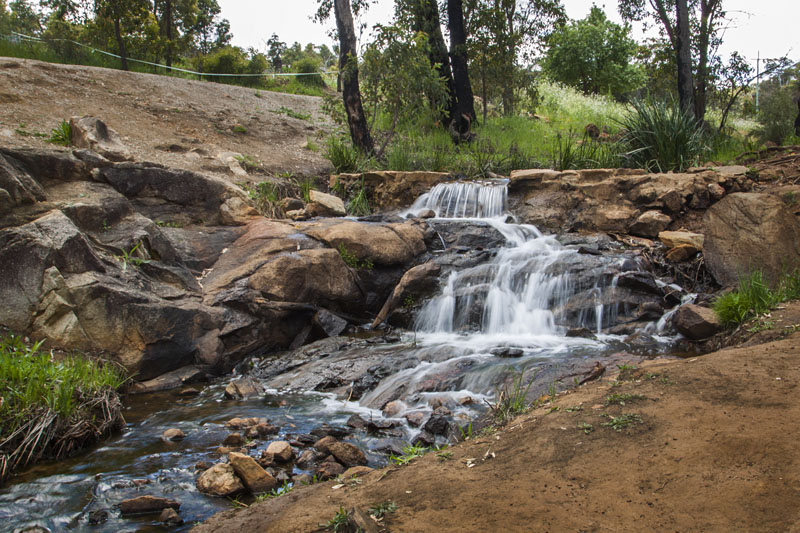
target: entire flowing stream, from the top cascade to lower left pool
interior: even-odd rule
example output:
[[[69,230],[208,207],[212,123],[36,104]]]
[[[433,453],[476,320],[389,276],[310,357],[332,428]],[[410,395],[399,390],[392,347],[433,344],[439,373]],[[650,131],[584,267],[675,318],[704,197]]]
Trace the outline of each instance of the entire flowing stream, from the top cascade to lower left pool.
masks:
[[[536,375],[537,386],[547,387],[564,376],[582,375],[595,360],[613,361],[611,354],[628,347],[623,336],[608,330],[631,311],[621,285],[630,279],[625,272],[635,272],[635,261],[622,252],[582,255],[580,247],[514,224],[506,202],[503,181],[451,183],[436,186],[409,208],[412,214],[433,210],[441,227],[448,221],[485,225],[506,242],[488,261],[447,274],[440,293],[419,312],[413,334],[384,343],[353,341],[318,357],[322,348],[311,345],[291,355],[308,357],[291,371],[270,372],[272,360],[257,363],[253,375],[269,389],[255,400],[224,400],[226,380],[193,396],[128,397],[122,434],[75,458],[31,468],[0,490],[0,531],[34,524],[50,531],[166,530],[154,516],[122,519],[114,510],[120,501],[143,494],[179,500],[186,524],[172,530],[187,530],[231,505],[200,494],[194,485],[195,464],[218,460],[214,450],[230,433],[224,427],[230,418],[266,417],[281,428],[275,439],[283,439],[323,422],[341,426],[354,413],[384,418],[381,409],[396,400],[392,431],[410,440],[419,429],[406,423],[409,413],[427,414],[445,405],[466,424],[520,373],[526,379]],[[594,335],[568,335],[575,328]],[[664,317],[643,328],[651,335],[651,351],[668,349],[670,339],[660,336],[665,328]],[[512,350],[513,359],[497,356]],[[329,374],[348,384],[367,376],[372,386],[358,401],[342,399],[346,387],[313,392],[324,388],[320,376]],[[163,442],[161,433],[170,427],[182,429],[187,438]],[[349,440],[367,450],[376,442],[363,433]],[[256,451],[267,444],[258,443]],[[376,453],[369,458],[373,465],[384,460]],[[90,525],[95,511],[107,518]]]

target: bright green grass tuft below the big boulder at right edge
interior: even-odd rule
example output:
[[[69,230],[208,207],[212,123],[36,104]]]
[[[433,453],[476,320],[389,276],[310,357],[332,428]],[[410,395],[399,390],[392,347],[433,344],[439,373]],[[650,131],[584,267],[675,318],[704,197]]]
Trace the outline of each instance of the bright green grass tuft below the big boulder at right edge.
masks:
[[[800,298],[800,271],[785,274],[772,289],[763,272],[754,270],[739,280],[737,289],[717,298],[713,309],[725,326],[735,327],[770,311],[781,302],[797,298]]]

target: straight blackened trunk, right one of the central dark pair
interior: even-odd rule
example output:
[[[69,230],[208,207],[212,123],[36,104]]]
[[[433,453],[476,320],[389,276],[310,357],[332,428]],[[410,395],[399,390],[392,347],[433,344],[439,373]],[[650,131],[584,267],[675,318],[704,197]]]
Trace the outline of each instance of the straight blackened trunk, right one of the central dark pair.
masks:
[[[453,88],[450,108],[451,118],[460,135],[469,132],[475,120],[475,102],[467,69],[467,32],[464,30],[462,0],[447,0],[447,21],[450,30],[450,61],[453,65]]]

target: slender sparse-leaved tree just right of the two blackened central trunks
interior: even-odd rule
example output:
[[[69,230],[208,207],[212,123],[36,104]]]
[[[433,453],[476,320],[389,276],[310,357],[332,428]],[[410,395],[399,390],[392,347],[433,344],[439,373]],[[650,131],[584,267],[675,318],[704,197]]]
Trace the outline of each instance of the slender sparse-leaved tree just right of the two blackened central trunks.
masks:
[[[503,112],[514,113],[518,66],[532,61],[548,32],[564,23],[560,0],[466,0],[467,34],[480,57],[484,102],[487,77],[501,88]],[[485,104],[484,104],[485,107]]]

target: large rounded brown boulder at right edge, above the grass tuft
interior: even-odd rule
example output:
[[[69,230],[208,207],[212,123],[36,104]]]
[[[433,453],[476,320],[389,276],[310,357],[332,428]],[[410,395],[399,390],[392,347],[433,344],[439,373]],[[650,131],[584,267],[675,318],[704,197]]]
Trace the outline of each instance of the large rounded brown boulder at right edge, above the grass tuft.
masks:
[[[800,267],[800,221],[776,196],[728,195],[706,212],[704,226],[703,256],[720,285],[756,269],[774,284]]]

